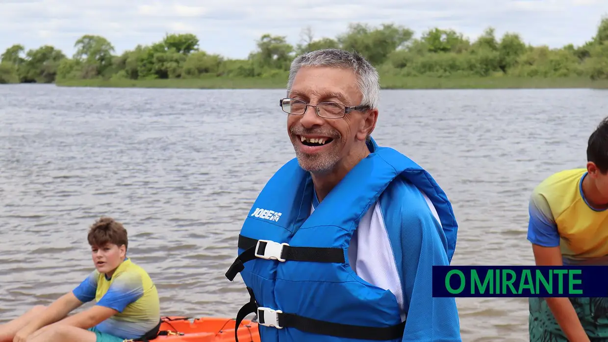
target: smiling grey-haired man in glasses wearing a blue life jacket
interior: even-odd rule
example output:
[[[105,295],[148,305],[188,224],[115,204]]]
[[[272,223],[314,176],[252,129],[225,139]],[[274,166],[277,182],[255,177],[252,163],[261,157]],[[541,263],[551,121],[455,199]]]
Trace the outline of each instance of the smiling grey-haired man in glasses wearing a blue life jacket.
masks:
[[[317,50],[292,63],[280,108],[295,158],[264,186],[238,239],[238,272],[264,342],[461,341],[454,298],[432,297],[457,222],[427,171],[371,139],[378,73]],[[349,340],[350,341],[350,340]]]

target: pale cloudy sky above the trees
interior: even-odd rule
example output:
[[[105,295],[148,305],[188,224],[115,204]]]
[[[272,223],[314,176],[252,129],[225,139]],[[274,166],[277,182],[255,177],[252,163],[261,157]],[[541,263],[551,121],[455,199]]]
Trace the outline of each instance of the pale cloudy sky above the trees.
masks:
[[[160,41],[165,33],[194,33],[199,47],[227,58],[247,58],[264,33],[302,41],[334,38],[351,22],[393,23],[415,37],[432,27],[471,39],[486,27],[519,33],[526,43],[584,44],[608,15],[608,0],[0,0],[0,53],[19,43],[49,44],[72,56],[85,34],[101,35],[115,53]]]

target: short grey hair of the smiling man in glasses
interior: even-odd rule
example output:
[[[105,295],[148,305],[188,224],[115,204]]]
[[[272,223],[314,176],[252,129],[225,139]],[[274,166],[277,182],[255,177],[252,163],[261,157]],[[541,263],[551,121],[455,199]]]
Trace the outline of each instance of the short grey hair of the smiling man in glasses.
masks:
[[[289,68],[289,80],[287,82],[287,94],[291,92],[294,84],[295,74],[301,67],[305,66],[328,66],[351,69],[357,76],[357,83],[362,94],[361,103],[370,108],[378,108],[380,100],[380,83],[378,71],[363,56],[357,52],[348,52],[341,49],[315,50],[297,56]]]

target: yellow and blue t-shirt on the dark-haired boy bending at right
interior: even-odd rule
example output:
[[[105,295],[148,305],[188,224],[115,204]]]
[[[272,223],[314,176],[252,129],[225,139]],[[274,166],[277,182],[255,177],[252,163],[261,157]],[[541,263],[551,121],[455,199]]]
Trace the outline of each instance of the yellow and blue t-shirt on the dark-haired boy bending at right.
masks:
[[[608,264],[608,210],[592,208],[582,193],[587,169],[570,169],[541,182],[530,198],[528,240],[559,246],[565,265]]]

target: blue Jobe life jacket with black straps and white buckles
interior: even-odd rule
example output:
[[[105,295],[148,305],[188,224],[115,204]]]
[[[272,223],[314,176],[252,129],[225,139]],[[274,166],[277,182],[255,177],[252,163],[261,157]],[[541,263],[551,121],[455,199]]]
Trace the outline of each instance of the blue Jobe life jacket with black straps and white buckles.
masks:
[[[348,262],[351,237],[396,177],[413,183],[435,205],[449,261],[457,224],[446,194],[426,170],[395,149],[373,140],[368,146],[369,156],[312,214],[313,181],[297,159],[264,186],[241,229],[239,256],[226,272],[230,281],[241,272],[250,295],[237,314],[237,328],[255,312],[264,342],[401,341],[405,322],[396,296],[356,275]]]

